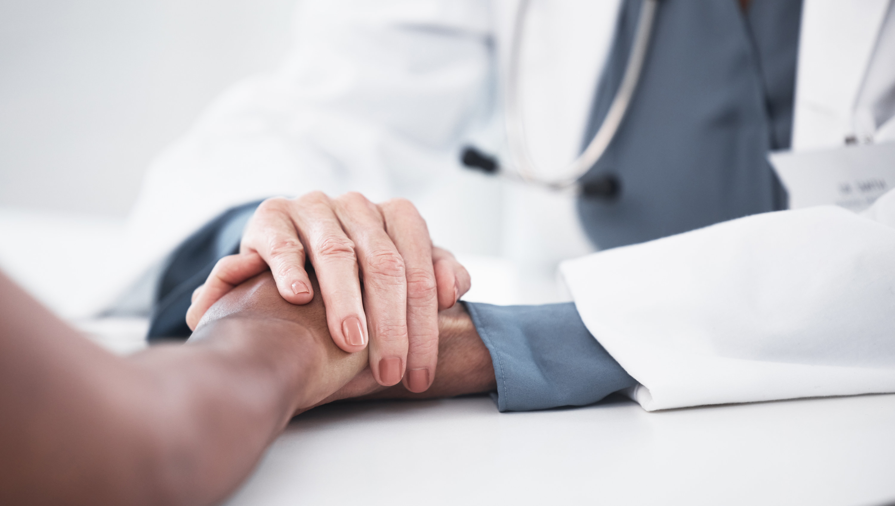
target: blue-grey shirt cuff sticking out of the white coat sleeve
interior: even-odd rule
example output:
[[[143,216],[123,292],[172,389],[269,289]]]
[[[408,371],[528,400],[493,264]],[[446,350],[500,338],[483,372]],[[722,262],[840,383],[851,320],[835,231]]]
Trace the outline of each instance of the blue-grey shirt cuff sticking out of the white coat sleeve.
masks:
[[[636,383],[587,331],[572,302],[465,307],[490,352],[500,411],[584,406]]]

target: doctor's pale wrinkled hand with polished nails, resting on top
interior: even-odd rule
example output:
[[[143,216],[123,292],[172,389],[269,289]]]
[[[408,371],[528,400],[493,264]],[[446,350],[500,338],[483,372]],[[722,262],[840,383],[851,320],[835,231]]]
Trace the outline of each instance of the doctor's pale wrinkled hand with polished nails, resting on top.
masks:
[[[221,258],[192,297],[191,329],[228,291],[268,269],[277,291],[307,304],[320,282],[327,324],[349,353],[370,344],[370,369],[383,386],[404,380],[423,392],[438,362],[438,311],[470,287],[469,274],[445,249],[434,248],[422,216],[402,198],[373,204],[360,193],[329,198],[268,198],[243,232],[240,253]],[[407,371],[407,374],[405,374]]]

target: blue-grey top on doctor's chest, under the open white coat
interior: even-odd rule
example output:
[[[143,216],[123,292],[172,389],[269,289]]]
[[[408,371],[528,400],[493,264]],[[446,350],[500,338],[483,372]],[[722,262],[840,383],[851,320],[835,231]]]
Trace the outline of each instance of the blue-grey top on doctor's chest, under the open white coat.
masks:
[[[625,0],[586,129],[625,71],[641,0]],[[801,0],[661,0],[635,95],[578,198],[601,249],[786,207],[768,163],[789,147]],[[605,191],[606,181],[613,184]]]

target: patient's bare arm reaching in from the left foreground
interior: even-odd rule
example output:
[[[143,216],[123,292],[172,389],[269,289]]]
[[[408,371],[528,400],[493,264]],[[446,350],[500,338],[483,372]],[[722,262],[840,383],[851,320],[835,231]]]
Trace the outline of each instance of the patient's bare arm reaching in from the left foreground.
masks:
[[[280,299],[272,283],[234,298],[263,301],[271,287]],[[296,410],[366,364],[315,329],[242,307],[186,345],[118,358],[0,275],[0,503],[226,497]]]

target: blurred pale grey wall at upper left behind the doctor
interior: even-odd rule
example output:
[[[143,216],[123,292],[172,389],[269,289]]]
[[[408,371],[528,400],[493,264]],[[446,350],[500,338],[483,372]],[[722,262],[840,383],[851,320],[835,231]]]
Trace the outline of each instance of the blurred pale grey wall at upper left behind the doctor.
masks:
[[[0,207],[124,218],[153,156],[277,66],[294,3],[0,1]]]

